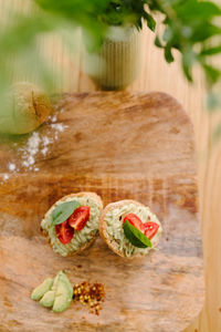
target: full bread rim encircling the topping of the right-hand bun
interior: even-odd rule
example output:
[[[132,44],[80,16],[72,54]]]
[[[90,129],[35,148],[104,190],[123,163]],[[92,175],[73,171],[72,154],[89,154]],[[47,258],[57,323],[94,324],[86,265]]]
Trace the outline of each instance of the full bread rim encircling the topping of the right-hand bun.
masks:
[[[119,209],[119,208],[122,208],[124,206],[129,206],[129,205],[146,208],[148,210],[148,215],[151,217],[151,219],[154,218],[154,220],[151,220],[151,221],[154,221],[154,222],[156,221],[157,224],[160,225],[160,227],[158,229],[158,231],[160,232],[160,235],[158,235],[158,239],[157,240],[155,239],[155,242],[152,243],[152,248],[157,247],[157,245],[160,241],[160,237],[161,237],[161,224],[159,222],[159,220],[157,219],[157,217],[150,211],[150,209],[147,206],[145,206],[144,204],[140,204],[140,203],[138,203],[136,200],[133,200],[133,199],[124,199],[124,200],[119,200],[119,201],[116,201],[116,203],[108,204],[105,207],[105,209],[103,210],[101,219],[99,219],[99,235],[104,239],[104,241],[107,243],[107,246],[115,253],[117,253],[120,257],[127,258],[127,259],[131,259],[131,258],[135,258],[135,257],[144,257],[144,256],[146,256],[146,255],[149,253],[149,250],[152,249],[152,248],[148,248],[147,250],[146,249],[139,249],[139,250],[136,250],[136,252],[133,253],[131,256],[126,256],[124,250],[119,250],[119,243],[118,243],[118,241],[113,236],[110,236],[108,234],[108,231],[107,231],[107,224],[106,224],[106,216],[107,216],[108,211],[114,210],[114,209]],[[131,212],[131,211],[128,210],[127,214],[129,214],[129,212]],[[120,220],[120,222],[123,222],[123,220]],[[133,246],[133,245],[130,245],[130,246]],[[136,248],[136,247],[134,247],[134,248]],[[146,250],[145,253],[144,253],[144,250]]]

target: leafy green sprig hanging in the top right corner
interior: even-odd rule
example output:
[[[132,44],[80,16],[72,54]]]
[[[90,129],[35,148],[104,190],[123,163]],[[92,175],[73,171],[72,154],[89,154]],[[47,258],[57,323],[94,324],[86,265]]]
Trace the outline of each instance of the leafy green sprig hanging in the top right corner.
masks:
[[[156,1],[148,1],[155,10]],[[151,2],[151,3],[150,3]],[[171,4],[169,4],[171,2]],[[221,40],[215,46],[210,46],[214,37],[221,37],[221,27],[214,19],[221,17],[221,9],[209,1],[157,1],[157,9],[165,14],[165,32],[156,38],[155,44],[165,50],[165,59],[172,62],[172,49],[182,54],[182,70],[192,82],[192,66],[199,63],[204,70],[209,85],[217,83],[221,71],[208,63],[208,58],[221,52]]]

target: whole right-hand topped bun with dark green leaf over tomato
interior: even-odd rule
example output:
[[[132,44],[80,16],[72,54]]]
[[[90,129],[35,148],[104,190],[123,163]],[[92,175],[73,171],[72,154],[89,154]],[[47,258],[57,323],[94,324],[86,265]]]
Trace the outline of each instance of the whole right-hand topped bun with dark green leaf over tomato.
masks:
[[[122,257],[146,256],[161,237],[161,224],[143,204],[126,199],[105,207],[99,220],[99,235]]]

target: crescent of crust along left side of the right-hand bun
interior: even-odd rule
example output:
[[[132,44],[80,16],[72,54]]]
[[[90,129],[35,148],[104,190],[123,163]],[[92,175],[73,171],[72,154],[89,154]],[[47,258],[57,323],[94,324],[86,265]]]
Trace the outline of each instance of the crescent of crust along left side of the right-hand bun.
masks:
[[[118,250],[118,245],[115,240],[110,239],[107,231],[106,231],[106,222],[105,222],[105,216],[106,214],[112,210],[113,208],[120,208],[124,205],[128,205],[128,204],[135,204],[137,206],[143,206],[146,207],[144,204],[134,200],[134,199],[124,199],[124,200],[119,200],[119,201],[115,201],[115,203],[110,203],[108,204],[105,209],[103,210],[101,218],[99,218],[99,236],[103,238],[103,240],[107,243],[107,246],[118,256],[126,258],[126,259],[134,259],[134,258],[138,258],[138,257],[144,257],[144,255],[140,253],[135,253],[130,257],[126,257],[124,255],[123,251]],[[147,255],[146,255],[147,256]]]

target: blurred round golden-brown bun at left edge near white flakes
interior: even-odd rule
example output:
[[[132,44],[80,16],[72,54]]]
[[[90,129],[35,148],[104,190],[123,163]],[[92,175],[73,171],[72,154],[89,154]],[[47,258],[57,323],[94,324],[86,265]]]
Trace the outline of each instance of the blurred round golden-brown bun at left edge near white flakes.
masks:
[[[21,135],[36,129],[52,113],[48,95],[29,82],[13,84],[0,113],[0,133]]]

